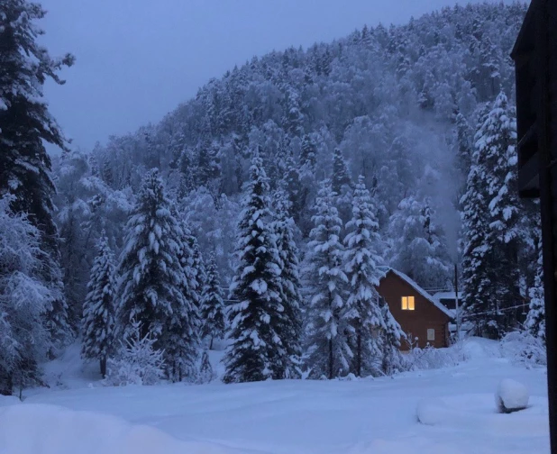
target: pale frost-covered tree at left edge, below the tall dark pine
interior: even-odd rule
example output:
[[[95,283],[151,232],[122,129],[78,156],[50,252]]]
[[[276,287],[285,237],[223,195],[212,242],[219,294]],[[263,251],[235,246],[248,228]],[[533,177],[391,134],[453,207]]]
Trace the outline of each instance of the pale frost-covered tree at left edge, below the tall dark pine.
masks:
[[[40,232],[0,198],[0,395],[41,383],[39,363],[50,349],[44,313],[50,287],[41,276]]]

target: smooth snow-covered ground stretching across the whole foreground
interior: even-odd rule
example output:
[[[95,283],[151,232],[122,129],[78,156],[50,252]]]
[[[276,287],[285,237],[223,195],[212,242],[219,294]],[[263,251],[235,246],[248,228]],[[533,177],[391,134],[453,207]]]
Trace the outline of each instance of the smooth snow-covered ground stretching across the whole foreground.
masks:
[[[93,369],[83,377],[68,352],[50,365],[68,389],[0,400],[0,453],[549,452],[545,369],[511,364],[488,340],[462,351],[458,366],[393,378],[121,388],[88,385]],[[527,409],[497,413],[504,378],[527,386]]]

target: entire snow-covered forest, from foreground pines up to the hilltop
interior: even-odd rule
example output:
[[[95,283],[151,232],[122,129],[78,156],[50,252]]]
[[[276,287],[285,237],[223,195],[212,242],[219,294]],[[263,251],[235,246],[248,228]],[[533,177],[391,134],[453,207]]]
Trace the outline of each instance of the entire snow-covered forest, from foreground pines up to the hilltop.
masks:
[[[74,56],[37,44],[40,5],[2,2],[0,394],[75,341],[114,385],[211,379],[214,340],[226,383],[393,374],[386,266],[429,292],[456,266],[471,333],[544,341],[538,209],[516,189],[525,11],[457,5],[253,57],[79,150],[42,93]]]

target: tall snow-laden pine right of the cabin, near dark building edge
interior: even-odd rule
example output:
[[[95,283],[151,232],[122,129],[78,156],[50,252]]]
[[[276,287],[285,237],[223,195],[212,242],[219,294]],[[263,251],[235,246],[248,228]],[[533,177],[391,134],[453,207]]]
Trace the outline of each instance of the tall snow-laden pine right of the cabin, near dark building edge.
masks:
[[[507,96],[484,111],[462,196],[465,247],[463,303],[478,334],[500,338],[516,326],[521,301],[518,266],[521,207],[515,189],[516,119]]]

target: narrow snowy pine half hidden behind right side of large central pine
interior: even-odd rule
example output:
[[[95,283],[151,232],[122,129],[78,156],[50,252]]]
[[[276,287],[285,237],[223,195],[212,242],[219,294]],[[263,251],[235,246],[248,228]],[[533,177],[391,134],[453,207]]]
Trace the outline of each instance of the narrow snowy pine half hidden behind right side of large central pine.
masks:
[[[294,219],[288,214],[288,198],[284,191],[277,191],[274,200],[275,221],[272,231],[277,239],[280,258],[280,285],[282,287],[283,323],[279,325],[282,344],[287,350],[288,363],[280,375],[285,378],[299,377],[302,357],[302,295],[300,293],[299,261],[294,241]]]

